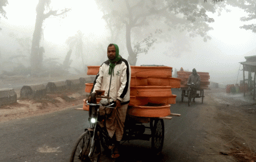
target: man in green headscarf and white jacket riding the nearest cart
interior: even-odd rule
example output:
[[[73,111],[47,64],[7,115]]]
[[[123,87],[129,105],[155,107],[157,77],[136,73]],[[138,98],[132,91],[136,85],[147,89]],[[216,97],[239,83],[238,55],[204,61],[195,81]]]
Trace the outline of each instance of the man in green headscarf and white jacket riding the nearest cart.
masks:
[[[100,114],[108,114],[105,121],[107,132],[112,138],[109,150],[112,151],[111,157],[119,157],[117,146],[124,134],[124,122],[126,112],[130,102],[130,74],[131,69],[127,60],[119,55],[119,47],[116,44],[109,44],[107,47],[107,57],[109,60],[104,62],[96,75],[91,93],[96,90],[104,90],[104,95],[111,97],[111,100],[102,98],[101,102],[116,102],[116,108],[100,110]]]

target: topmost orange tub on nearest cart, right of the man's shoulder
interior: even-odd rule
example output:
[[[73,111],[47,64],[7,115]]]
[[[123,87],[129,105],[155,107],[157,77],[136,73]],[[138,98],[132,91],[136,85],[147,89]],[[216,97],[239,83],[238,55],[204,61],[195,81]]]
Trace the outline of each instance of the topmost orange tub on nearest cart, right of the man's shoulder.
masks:
[[[130,66],[132,76],[136,77],[172,77],[172,67]]]

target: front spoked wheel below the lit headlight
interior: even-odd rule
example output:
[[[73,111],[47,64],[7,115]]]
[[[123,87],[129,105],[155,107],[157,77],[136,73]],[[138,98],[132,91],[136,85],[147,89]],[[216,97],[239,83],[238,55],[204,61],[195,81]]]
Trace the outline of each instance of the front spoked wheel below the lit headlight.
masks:
[[[74,161],[99,161],[101,155],[101,147],[97,145],[97,156],[94,156],[93,160],[90,160],[88,155],[90,152],[90,148],[92,145],[92,134],[91,131],[85,131],[82,135],[78,138],[75,147],[72,150],[70,162]],[[96,143],[95,143],[96,146]],[[93,148],[94,152],[96,151],[96,147]]]

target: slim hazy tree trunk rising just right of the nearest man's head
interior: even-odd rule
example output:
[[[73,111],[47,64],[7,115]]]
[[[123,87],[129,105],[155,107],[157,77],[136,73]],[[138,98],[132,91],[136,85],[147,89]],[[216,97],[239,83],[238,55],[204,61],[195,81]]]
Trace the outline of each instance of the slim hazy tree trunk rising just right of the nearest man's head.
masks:
[[[131,27],[129,26],[129,24],[126,24],[126,47],[129,53],[127,61],[130,65],[135,66],[137,62],[137,54],[135,54],[132,50],[132,44],[130,42],[130,31]]]

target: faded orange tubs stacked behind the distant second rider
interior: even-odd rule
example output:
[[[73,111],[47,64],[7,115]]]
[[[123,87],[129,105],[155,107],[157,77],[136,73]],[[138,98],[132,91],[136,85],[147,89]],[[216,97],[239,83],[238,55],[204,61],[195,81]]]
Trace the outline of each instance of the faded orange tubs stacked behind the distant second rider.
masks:
[[[187,80],[189,80],[189,75],[192,74],[192,72],[184,72],[179,71],[177,72],[177,78],[181,79],[180,87],[188,87],[187,86]],[[200,75],[200,88],[202,89],[208,89],[210,82],[210,75],[209,72],[197,72],[197,74]]]

